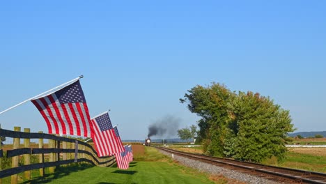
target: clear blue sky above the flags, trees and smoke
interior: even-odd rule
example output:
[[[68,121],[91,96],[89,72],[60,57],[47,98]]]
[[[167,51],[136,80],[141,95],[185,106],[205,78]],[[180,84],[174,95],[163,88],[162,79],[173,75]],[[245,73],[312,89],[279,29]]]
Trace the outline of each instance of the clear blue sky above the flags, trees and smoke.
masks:
[[[84,75],[91,117],[145,139],[197,84],[270,96],[296,132],[326,130],[326,1],[2,1],[0,111]],[[2,128],[47,131],[28,102]]]

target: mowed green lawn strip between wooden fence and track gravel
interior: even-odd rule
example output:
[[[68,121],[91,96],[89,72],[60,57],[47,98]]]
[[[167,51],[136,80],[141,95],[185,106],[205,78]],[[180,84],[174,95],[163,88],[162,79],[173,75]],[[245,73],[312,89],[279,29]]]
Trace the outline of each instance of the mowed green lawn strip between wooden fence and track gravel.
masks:
[[[142,146],[142,145],[139,145]],[[27,183],[27,182],[26,182]],[[209,176],[189,167],[184,167],[159,153],[155,148],[148,148],[141,153],[134,153],[130,169],[114,167],[61,167],[55,174],[46,178],[33,178],[29,183],[76,183],[76,184],[111,184],[111,183],[227,183],[223,176]]]

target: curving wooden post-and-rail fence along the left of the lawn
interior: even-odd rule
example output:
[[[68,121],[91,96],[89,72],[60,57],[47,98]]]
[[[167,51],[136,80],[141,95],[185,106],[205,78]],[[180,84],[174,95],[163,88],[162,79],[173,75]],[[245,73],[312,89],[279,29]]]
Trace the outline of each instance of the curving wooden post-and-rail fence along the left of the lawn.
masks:
[[[0,128],[0,136],[13,138],[13,149],[7,151],[0,149],[0,184],[2,178],[7,176],[11,176],[11,183],[17,183],[17,174],[22,172],[24,179],[30,180],[33,169],[39,169],[40,176],[44,176],[47,167],[49,173],[54,173],[56,167],[64,164],[88,162],[101,167],[110,167],[116,162],[114,156],[98,158],[93,146],[84,141],[42,132],[31,133],[29,128],[24,128],[24,132],[20,131],[20,127],[15,127],[14,131]],[[22,145],[21,139],[24,139]],[[30,139],[38,139],[38,148],[31,148]],[[44,139],[48,139],[47,146]],[[31,163],[31,155],[38,155],[38,163]],[[5,157],[11,158],[11,168],[2,169],[1,162]],[[24,159],[24,163],[19,166],[20,159]]]

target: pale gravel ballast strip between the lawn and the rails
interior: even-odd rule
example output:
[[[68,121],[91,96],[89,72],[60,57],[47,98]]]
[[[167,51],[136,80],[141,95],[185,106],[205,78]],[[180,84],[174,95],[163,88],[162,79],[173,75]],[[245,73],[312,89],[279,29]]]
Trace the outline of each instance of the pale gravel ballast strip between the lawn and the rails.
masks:
[[[169,157],[173,157],[173,160],[184,164],[187,167],[192,167],[194,169],[198,169],[199,171],[208,172],[210,174],[222,174],[226,178],[231,178],[237,181],[242,181],[244,183],[253,183],[253,184],[261,184],[261,183],[268,183],[268,184],[279,184],[275,181],[266,180],[264,178],[258,178],[256,176],[251,176],[249,174],[243,174],[238,171],[233,171],[231,169],[225,169],[223,167],[217,167],[212,164],[208,164],[205,162],[200,162],[198,160],[191,160],[189,158],[181,157],[166,151],[159,150],[162,154],[168,155]]]

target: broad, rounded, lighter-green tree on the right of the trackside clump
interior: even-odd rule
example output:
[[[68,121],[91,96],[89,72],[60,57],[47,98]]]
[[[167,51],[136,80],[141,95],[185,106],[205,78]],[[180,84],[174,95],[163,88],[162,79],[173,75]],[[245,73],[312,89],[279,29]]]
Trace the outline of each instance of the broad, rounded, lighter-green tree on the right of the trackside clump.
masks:
[[[226,155],[252,162],[284,157],[287,133],[293,132],[288,110],[259,93],[239,92],[229,111]]]

